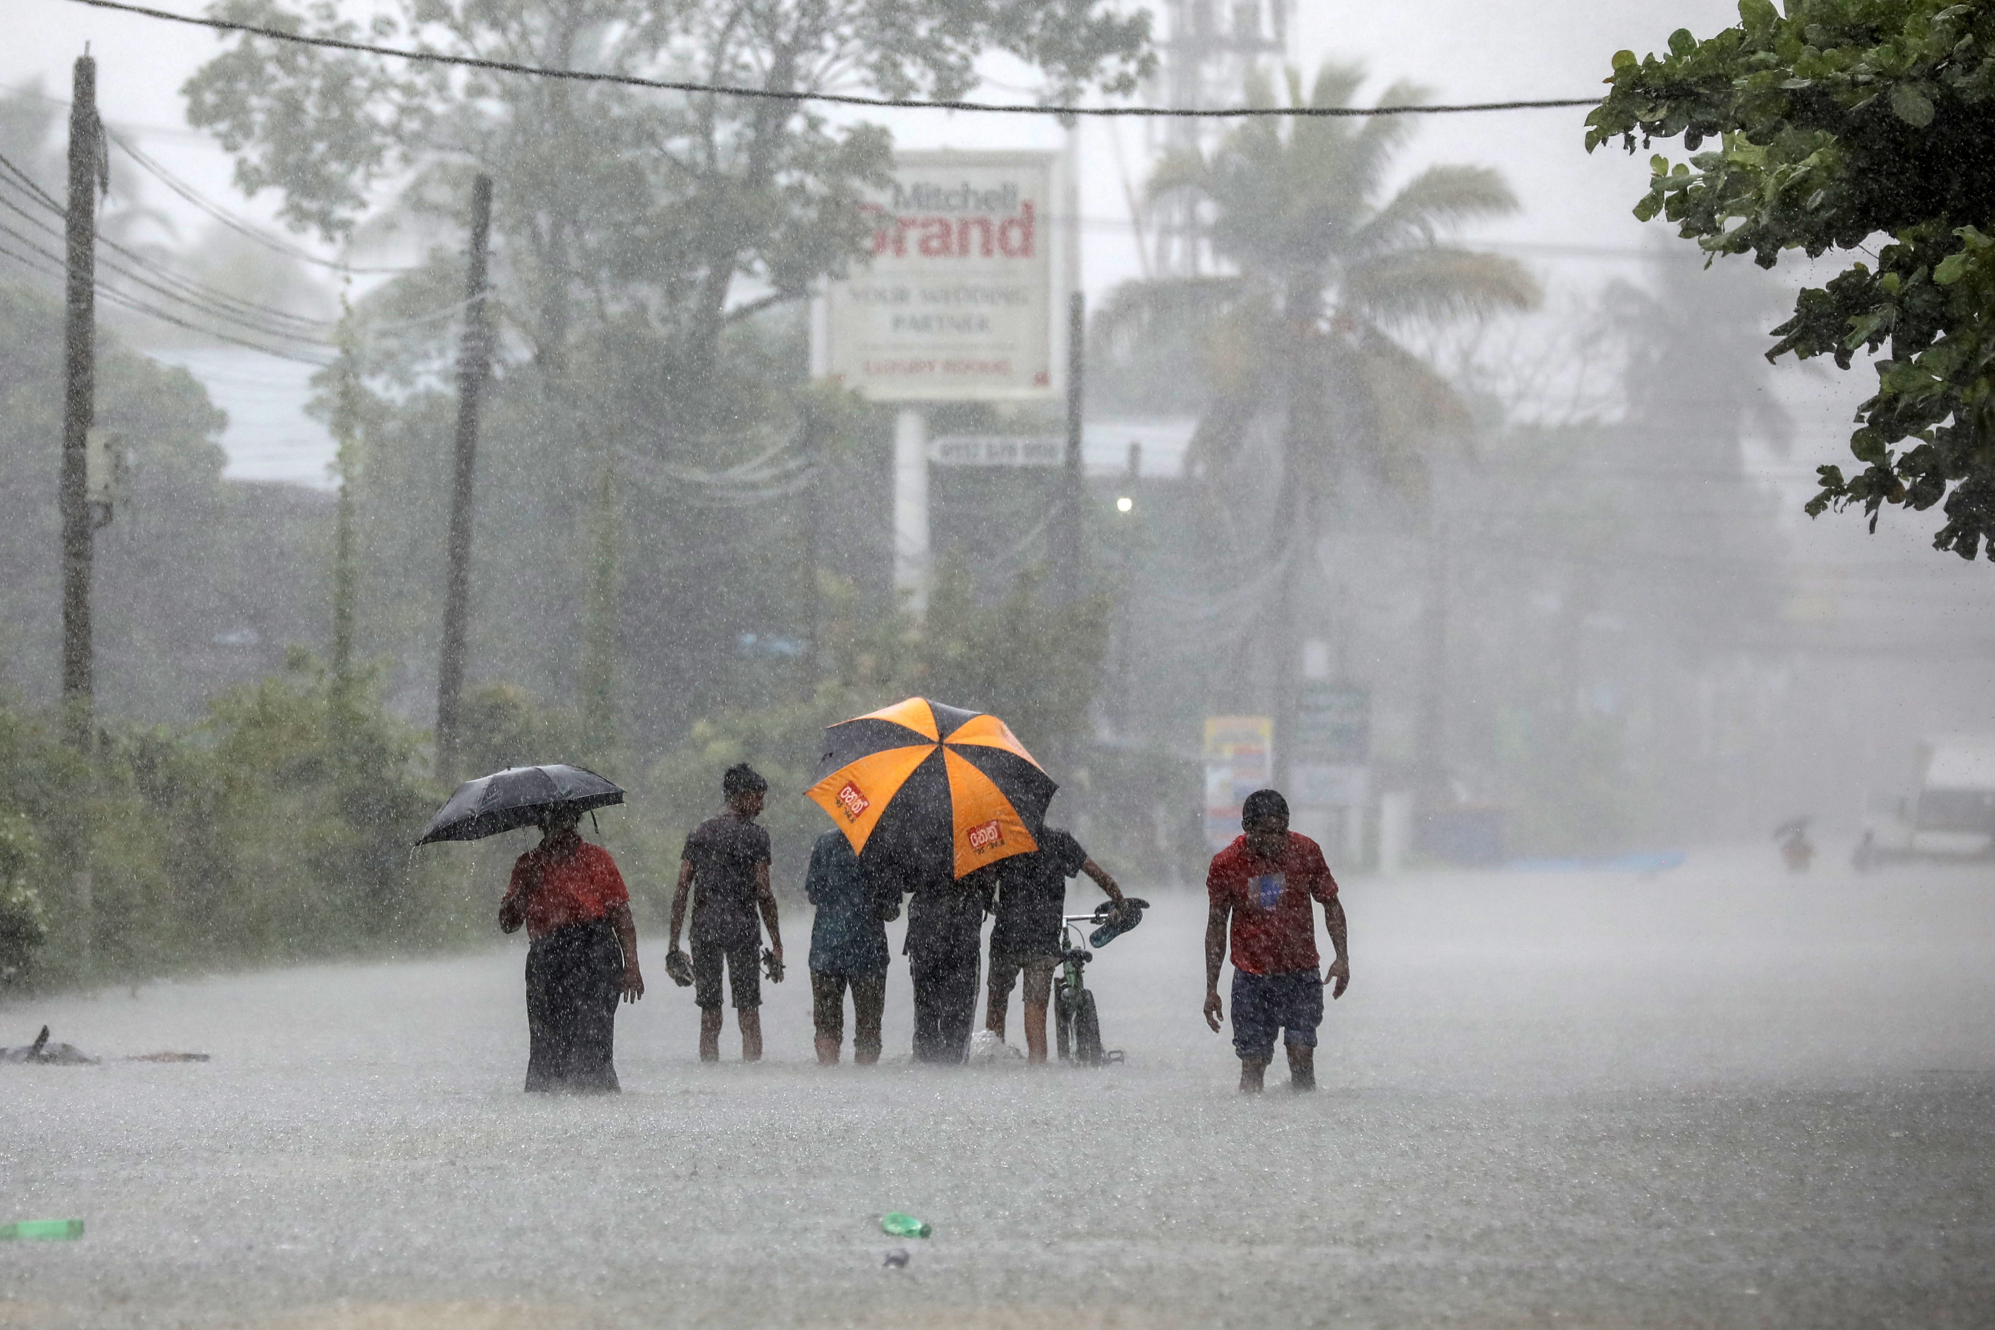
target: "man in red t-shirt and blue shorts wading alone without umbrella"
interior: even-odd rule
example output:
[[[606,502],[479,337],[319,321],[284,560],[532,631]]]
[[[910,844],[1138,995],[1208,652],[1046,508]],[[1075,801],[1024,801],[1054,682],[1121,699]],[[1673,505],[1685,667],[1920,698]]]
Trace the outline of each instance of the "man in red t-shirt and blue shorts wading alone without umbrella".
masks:
[[[1241,806],[1241,831],[1213,855],[1205,873],[1205,1023],[1219,1029],[1219,965],[1233,941],[1233,1051],[1241,1059],[1241,1093],[1259,1095],[1275,1061],[1275,1033],[1289,1049],[1289,1085],[1317,1089],[1317,1027],[1323,985],[1331,997],[1351,983],[1345,957],[1345,907],[1337,903],[1317,841],[1289,830],[1289,802],[1275,790],[1255,790]],[[1317,917],[1323,903],[1337,959],[1317,979]]]

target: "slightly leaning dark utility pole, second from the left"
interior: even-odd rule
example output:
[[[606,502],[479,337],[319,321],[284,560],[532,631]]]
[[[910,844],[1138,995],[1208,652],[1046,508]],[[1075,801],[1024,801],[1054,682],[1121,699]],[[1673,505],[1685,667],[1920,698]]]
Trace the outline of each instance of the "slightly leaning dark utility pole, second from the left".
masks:
[[[443,656],[437,668],[437,778],[457,776],[457,700],[465,690],[465,624],[471,614],[471,479],[479,461],[479,397],[491,371],[485,311],[485,247],[493,225],[493,179],[471,185],[471,271],[465,279],[465,341],[457,359],[457,467],[451,481],[449,574],[443,586]]]

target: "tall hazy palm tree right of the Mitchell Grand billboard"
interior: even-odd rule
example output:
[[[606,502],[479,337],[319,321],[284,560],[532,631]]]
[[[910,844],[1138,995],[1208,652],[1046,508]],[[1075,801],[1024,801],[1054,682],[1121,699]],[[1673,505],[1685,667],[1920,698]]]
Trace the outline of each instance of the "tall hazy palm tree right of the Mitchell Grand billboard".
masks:
[[[1301,74],[1287,70],[1287,106],[1353,106],[1363,80],[1357,66],[1325,64],[1305,100]],[[1393,84],[1381,106],[1422,96]],[[1247,104],[1277,106],[1265,78],[1249,80]],[[1199,361],[1191,461],[1205,475],[1239,457],[1259,425],[1279,429],[1281,477],[1263,526],[1265,560],[1281,568],[1263,620],[1277,650],[1277,780],[1293,748],[1301,552],[1337,469],[1357,463],[1420,497],[1422,451],[1466,427],[1448,385],[1395,333],[1538,301],[1516,261],[1442,241],[1464,221],[1516,211],[1494,169],[1434,166],[1381,199],[1410,134],[1408,116],[1257,118],[1211,152],[1165,156],[1149,195],[1197,197],[1205,239],[1233,271],[1129,283],[1097,321],[1111,357],[1149,343]]]

